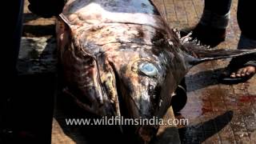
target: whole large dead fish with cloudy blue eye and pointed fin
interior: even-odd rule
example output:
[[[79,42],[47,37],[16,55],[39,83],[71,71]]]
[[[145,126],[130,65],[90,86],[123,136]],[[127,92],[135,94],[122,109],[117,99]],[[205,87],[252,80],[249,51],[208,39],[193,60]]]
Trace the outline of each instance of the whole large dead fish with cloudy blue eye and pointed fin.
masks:
[[[100,116],[162,118],[192,66],[255,50],[208,50],[170,29],[150,0],[69,0],[57,22],[65,90]],[[144,142],[158,126],[137,126]]]

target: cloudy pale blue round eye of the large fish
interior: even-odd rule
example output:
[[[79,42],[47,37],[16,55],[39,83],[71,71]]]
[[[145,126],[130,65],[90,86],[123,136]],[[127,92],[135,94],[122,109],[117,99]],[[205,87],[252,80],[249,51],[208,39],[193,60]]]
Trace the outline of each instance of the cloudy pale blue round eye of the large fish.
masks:
[[[150,62],[142,62],[138,65],[138,70],[148,77],[156,77],[158,75],[158,69]]]

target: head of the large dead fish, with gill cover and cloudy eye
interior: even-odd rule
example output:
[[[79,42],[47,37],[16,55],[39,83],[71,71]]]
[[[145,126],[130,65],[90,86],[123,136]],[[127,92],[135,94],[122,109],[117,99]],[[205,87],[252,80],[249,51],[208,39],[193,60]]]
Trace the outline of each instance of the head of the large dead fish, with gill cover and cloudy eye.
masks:
[[[85,31],[77,38],[62,21],[58,26],[58,55],[66,90],[79,106],[99,116],[134,120],[162,118],[166,114],[171,94],[187,68],[183,55],[172,49],[161,31],[151,26],[117,24],[113,29],[107,25]],[[129,29],[126,36],[135,37],[134,42],[101,46],[86,38],[112,34],[117,26],[120,33]],[[157,133],[158,123],[134,128],[139,138],[149,142]]]

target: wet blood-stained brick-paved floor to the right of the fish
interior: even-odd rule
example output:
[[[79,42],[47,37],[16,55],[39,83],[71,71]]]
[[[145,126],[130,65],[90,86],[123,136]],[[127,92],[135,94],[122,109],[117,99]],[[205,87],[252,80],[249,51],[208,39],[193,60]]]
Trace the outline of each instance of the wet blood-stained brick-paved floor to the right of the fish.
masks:
[[[160,2],[161,3],[161,2]],[[240,30],[236,19],[238,1],[233,1],[226,41],[219,48],[236,49]],[[203,1],[163,1],[170,26],[195,26]],[[188,118],[179,126],[182,143],[256,143],[256,78],[237,85],[218,83],[228,61],[218,60],[195,66],[186,75],[188,102],[177,118]]]

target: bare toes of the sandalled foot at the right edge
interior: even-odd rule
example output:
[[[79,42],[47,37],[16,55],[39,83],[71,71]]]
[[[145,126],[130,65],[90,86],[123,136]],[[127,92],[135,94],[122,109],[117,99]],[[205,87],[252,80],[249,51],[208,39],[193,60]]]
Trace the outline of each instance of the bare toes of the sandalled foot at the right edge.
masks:
[[[256,73],[256,67],[254,66],[246,66],[239,69],[236,73],[231,73],[231,78],[241,78],[246,76],[252,76]]]

